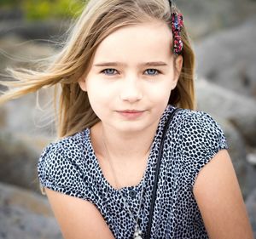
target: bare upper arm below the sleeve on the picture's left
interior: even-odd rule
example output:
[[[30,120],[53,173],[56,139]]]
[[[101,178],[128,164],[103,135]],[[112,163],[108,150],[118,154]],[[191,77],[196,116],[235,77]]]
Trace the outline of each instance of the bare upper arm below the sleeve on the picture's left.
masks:
[[[47,188],[45,191],[65,239],[114,239],[92,203]]]

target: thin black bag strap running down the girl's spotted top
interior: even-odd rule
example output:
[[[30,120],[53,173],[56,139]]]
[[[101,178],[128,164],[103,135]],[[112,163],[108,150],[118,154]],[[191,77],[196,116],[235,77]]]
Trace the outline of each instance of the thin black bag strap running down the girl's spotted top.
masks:
[[[169,118],[166,121],[164,130],[163,130],[162,139],[160,141],[160,151],[159,151],[159,155],[157,157],[157,162],[156,162],[157,164],[156,164],[156,169],[155,169],[155,174],[154,174],[154,187],[153,187],[152,202],[151,202],[150,211],[149,211],[148,229],[146,231],[146,236],[144,239],[150,239],[150,235],[151,235],[151,225],[152,225],[152,219],[153,219],[153,213],[154,213],[154,202],[155,202],[159,173],[160,173],[160,161],[161,161],[161,158],[163,155],[163,148],[164,148],[164,142],[166,139],[167,128],[170,125],[170,122],[172,121],[172,118],[175,115],[175,113],[180,110],[181,110],[180,108],[176,108],[174,111],[172,111],[171,115],[169,116]]]

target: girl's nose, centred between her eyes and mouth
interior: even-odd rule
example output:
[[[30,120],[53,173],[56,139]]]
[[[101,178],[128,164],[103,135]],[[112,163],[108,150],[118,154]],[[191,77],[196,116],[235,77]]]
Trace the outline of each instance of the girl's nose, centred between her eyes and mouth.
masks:
[[[121,100],[129,101],[131,103],[143,99],[142,89],[137,82],[137,79],[124,80],[119,95]]]

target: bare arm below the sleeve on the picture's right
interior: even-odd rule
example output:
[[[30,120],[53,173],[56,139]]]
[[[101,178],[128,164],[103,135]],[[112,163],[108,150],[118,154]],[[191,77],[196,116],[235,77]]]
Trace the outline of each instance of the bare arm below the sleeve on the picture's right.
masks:
[[[211,239],[253,239],[230,156],[219,151],[201,169],[193,189]]]

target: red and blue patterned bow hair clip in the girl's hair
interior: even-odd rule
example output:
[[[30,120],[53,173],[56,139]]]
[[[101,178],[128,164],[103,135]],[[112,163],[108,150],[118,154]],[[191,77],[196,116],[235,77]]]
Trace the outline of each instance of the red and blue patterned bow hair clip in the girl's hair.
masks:
[[[169,0],[170,8],[172,11],[172,1]],[[182,54],[183,41],[181,38],[181,31],[183,28],[183,15],[173,12],[171,16],[172,21],[172,34],[173,34],[173,53],[176,55]]]

